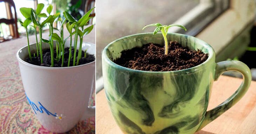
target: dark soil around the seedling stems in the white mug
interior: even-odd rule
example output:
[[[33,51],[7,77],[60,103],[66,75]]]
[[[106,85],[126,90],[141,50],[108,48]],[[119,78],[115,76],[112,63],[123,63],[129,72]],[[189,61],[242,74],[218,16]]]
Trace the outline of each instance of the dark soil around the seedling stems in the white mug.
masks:
[[[74,47],[72,47],[71,52],[72,52],[72,57],[70,59],[70,66],[73,66]],[[75,61],[77,60],[77,56],[78,56],[78,50],[76,50]],[[94,55],[90,55],[90,54],[86,53],[86,58],[84,58],[84,56],[85,56],[85,52],[82,51],[82,58],[79,60],[79,65],[83,65],[83,64],[95,61]],[[68,57],[69,57],[69,48],[65,48],[64,49],[64,65],[63,65],[63,67],[68,66]],[[54,50],[54,58],[56,58],[56,50]],[[58,61],[56,61],[56,59],[54,59],[54,67],[61,67],[61,61],[62,61],[61,58]],[[28,58],[26,58],[26,62],[33,64],[33,65],[39,65],[39,66],[50,66],[52,64],[51,56],[50,56],[50,49],[43,50],[43,64],[41,64],[40,55],[38,57],[32,56],[32,61],[28,57]]]

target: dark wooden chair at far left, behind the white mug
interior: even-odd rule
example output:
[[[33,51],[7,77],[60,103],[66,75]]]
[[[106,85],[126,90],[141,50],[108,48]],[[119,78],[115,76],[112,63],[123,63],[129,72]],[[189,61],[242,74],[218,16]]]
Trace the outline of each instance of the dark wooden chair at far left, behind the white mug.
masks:
[[[13,0],[0,0],[0,2],[6,3],[7,17],[11,18],[11,19],[5,19],[5,18],[0,19],[0,24],[1,23],[9,24],[10,34],[11,34],[12,38],[19,38],[18,25],[17,25],[17,13],[16,13],[16,7],[15,7]],[[14,8],[15,18],[13,18],[11,7]],[[2,41],[7,41],[7,40],[2,39]]]

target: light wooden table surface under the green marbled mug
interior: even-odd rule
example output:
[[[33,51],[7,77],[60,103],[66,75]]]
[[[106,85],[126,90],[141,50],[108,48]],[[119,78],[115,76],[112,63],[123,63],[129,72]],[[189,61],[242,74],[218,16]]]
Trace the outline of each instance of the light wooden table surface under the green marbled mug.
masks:
[[[241,82],[239,78],[221,76],[213,84],[208,110],[233,94]],[[96,94],[96,102],[96,133],[122,134],[110,112],[103,90]],[[256,134],[256,82],[251,82],[248,92],[235,106],[196,134]]]

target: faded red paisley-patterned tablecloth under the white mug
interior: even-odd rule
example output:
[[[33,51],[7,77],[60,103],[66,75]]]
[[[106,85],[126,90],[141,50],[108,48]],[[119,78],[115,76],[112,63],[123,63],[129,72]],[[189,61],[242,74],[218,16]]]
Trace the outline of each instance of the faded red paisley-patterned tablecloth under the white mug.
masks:
[[[36,119],[25,96],[16,52],[26,39],[0,43],[0,134],[54,134]],[[95,94],[92,105],[95,104]],[[68,134],[95,134],[95,117],[78,122]]]

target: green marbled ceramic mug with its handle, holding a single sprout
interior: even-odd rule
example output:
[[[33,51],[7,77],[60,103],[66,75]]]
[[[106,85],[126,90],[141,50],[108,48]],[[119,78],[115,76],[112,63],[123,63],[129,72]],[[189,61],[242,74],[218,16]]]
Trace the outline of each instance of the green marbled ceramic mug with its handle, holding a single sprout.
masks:
[[[102,52],[108,104],[117,124],[126,134],[195,133],[235,105],[248,90],[251,73],[244,63],[215,63],[213,48],[192,36],[169,33],[167,38],[191,50],[201,49],[209,57],[193,68],[167,72],[133,70],[113,62],[121,56],[122,50],[150,42],[164,44],[161,33],[126,36],[108,44]],[[230,70],[242,73],[241,86],[222,104],[207,111],[213,82]]]

